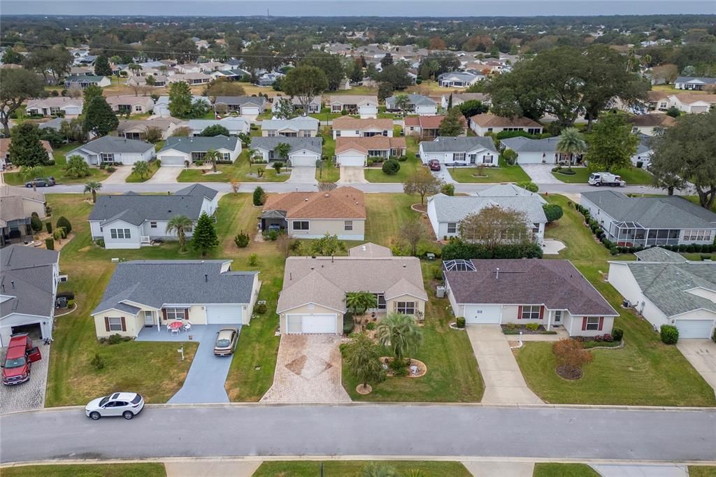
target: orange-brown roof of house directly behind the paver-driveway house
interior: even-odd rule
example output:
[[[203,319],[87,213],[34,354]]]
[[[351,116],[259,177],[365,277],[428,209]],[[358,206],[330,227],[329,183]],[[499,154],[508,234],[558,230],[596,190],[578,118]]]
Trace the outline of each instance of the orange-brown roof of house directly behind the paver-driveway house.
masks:
[[[363,192],[339,187],[326,192],[288,192],[269,196],[263,211],[286,211],[286,218],[366,218]]]

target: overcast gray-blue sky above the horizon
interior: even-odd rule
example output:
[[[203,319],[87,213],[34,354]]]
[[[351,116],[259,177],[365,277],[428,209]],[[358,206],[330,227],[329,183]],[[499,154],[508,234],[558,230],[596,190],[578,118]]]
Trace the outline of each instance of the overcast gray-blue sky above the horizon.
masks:
[[[191,16],[535,16],[716,14],[703,0],[0,0],[0,14]]]

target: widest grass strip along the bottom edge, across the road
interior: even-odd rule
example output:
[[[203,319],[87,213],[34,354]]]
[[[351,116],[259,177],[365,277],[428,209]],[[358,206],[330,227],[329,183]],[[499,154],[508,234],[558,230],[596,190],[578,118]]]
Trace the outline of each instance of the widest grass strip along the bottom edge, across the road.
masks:
[[[359,477],[371,463],[389,466],[400,475],[420,471],[421,477],[470,477],[472,474],[459,462],[432,461],[265,461],[253,477]],[[321,464],[323,473],[321,473]],[[391,474],[392,475],[392,474]],[[415,473],[417,475],[417,473]]]

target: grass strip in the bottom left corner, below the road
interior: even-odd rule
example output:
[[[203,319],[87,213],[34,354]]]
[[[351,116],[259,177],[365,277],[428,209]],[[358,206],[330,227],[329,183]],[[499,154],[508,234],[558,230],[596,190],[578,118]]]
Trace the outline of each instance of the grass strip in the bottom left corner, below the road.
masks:
[[[111,463],[111,464],[62,464],[57,466],[21,466],[2,469],[4,477],[164,477],[164,464]]]

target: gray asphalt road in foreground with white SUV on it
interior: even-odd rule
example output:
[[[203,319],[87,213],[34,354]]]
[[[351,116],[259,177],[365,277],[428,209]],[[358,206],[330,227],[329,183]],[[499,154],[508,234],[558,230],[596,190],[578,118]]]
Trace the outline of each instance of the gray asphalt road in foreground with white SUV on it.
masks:
[[[83,410],[0,416],[0,461],[238,456],[494,456],[716,459],[715,410],[453,405],[147,408],[92,421]]]

